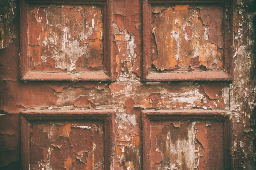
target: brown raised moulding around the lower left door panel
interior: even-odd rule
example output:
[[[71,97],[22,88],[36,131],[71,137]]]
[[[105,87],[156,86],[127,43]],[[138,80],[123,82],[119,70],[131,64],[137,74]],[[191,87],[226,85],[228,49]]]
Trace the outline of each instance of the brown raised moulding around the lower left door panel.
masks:
[[[115,112],[111,110],[26,110],[20,112],[21,167],[29,169],[30,125],[33,121],[101,120],[104,121],[104,167],[113,164],[115,138]]]

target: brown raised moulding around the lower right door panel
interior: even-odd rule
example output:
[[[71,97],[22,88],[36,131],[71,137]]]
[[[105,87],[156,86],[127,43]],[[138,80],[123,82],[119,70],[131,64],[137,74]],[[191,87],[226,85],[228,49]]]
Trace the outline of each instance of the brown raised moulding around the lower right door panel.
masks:
[[[219,120],[224,122],[224,169],[231,168],[231,134],[232,121],[231,114],[220,110],[144,110],[142,111],[143,129],[143,169],[151,170],[151,120]]]

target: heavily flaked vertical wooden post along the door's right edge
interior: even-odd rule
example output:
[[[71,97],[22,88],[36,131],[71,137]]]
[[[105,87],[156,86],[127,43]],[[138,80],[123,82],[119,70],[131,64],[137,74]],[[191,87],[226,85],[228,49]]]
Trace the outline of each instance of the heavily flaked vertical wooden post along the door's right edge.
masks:
[[[256,1],[234,1],[234,81],[230,84],[234,169],[256,168]]]

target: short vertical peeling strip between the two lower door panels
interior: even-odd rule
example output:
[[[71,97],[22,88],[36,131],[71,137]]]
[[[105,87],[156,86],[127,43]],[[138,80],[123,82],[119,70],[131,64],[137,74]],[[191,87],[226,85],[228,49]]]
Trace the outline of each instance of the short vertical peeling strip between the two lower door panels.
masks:
[[[140,170],[141,127],[136,114],[119,113],[116,115],[116,154],[114,170]]]

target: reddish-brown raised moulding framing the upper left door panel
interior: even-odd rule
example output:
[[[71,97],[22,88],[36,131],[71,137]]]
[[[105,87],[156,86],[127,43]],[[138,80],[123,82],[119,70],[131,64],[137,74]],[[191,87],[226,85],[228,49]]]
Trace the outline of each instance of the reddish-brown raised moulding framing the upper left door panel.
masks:
[[[23,81],[111,81],[112,76],[112,5],[111,0],[20,0],[20,80]],[[103,24],[103,55],[101,71],[79,71],[79,72],[49,72],[31,71],[29,68],[29,5],[98,5],[102,7]],[[76,75],[78,74],[78,75]]]

